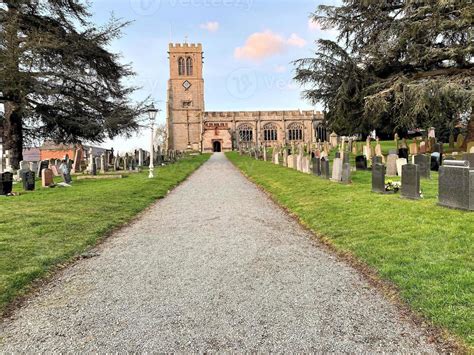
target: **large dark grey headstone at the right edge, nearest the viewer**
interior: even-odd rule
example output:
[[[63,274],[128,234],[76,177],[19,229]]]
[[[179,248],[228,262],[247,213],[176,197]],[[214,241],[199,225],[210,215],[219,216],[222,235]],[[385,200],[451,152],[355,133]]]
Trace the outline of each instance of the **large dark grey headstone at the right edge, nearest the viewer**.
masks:
[[[439,204],[474,211],[474,170],[465,160],[445,160],[439,169]]]

